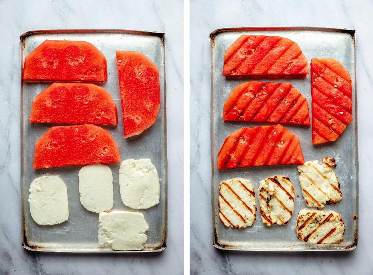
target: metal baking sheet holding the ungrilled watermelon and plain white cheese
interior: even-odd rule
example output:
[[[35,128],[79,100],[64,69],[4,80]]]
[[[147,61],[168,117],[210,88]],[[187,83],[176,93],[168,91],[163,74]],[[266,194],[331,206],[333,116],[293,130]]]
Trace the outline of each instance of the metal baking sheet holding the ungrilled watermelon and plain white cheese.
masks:
[[[111,94],[118,112],[117,126],[102,126],[119,146],[122,160],[150,158],[160,178],[160,203],[149,209],[136,210],[122,203],[119,192],[119,165],[108,164],[113,173],[114,209],[138,211],[149,225],[148,240],[140,252],[162,251],[167,233],[167,146],[164,33],[126,30],[53,30],[30,31],[20,37],[21,70],[28,53],[45,39],[84,40],[94,44],[107,59],[107,82],[96,83]],[[116,50],[142,51],[159,68],[161,107],[157,121],[141,135],[125,138],[116,66]],[[82,166],[32,169],[34,144],[51,126],[29,123],[32,99],[51,82],[27,82],[21,85],[21,199],[22,245],[29,250],[54,252],[128,252],[98,247],[98,214],[86,210],[79,200],[78,172]],[[29,187],[41,175],[59,175],[68,188],[69,219],[53,226],[38,225],[31,217]],[[134,252],[134,251],[131,251]]]

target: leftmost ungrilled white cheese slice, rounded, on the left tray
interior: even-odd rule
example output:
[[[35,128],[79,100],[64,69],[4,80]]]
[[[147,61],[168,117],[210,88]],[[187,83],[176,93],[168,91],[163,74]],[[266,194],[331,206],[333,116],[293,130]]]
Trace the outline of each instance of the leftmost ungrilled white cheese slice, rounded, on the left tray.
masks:
[[[31,216],[37,224],[53,225],[69,218],[68,190],[58,176],[35,178],[30,186]]]

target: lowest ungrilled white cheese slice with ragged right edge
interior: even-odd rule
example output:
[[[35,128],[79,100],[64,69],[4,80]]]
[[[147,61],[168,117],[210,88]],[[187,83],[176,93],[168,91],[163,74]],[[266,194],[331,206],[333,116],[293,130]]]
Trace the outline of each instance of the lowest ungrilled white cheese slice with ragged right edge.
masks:
[[[144,215],[139,212],[115,210],[98,215],[98,245],[113,250],[141,250],[149,230]]]

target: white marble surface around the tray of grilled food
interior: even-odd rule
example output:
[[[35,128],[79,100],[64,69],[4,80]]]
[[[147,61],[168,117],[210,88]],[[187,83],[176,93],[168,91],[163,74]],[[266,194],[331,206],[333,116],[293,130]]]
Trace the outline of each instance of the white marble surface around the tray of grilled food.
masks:
[[[299,4],[295,4],[295,3]],[[373,274],[370,199],[372,157],[373,2],[191,1],[191,274]],[[210,46],[218,28],[320,26],[356,29],[359,201],[358,247],[351,252],[227,252],[212,246],[210,176]]]

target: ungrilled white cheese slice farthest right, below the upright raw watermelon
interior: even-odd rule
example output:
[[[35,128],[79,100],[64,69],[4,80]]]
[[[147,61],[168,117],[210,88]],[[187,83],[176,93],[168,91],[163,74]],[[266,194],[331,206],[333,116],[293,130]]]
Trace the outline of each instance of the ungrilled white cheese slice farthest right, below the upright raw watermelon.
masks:
[[[159,203],[158,172],[150,159],[126,159],[119,168],[122,202],[133,209],[147,209]]]

